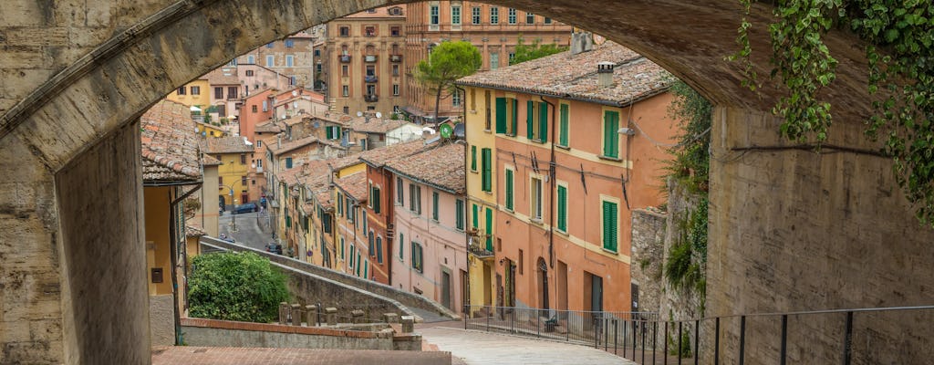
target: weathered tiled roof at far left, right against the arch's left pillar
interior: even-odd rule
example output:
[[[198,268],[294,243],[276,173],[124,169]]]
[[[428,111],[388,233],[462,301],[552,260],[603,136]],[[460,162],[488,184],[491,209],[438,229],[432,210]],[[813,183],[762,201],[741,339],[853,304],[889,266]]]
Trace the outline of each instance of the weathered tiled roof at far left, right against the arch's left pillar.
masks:
[[[144,181],[197,181],[198,137],[188,106],[163,100],[139,118]]]

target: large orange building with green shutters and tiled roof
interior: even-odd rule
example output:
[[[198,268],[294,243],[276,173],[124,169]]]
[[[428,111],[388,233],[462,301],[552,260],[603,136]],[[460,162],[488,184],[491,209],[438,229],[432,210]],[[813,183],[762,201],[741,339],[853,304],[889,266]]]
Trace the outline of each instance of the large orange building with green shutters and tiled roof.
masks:
[[[472,288],[490,290],[472,290],[472,304],[633,309],[630,212],[664,203],[664,146],[677,134],[666,77],[606,44],[460,79],[468,174],[477,175],[468,185],[481,185],[468,186],[469,199],[492,196],[496,206],[491,229],[486,212],[468,219],[482,226],[475,241],[493,243],[484,271],[495,275],[471,274],[482,280]]]

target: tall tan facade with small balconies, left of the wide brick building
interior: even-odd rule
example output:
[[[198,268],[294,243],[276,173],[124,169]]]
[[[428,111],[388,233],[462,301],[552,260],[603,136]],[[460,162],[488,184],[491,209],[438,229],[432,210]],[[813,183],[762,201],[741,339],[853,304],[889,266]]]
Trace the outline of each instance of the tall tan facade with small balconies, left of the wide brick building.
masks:
[[[324,58],[333,110],[389,117],[405,105],[405,5],[379,7],[327,24]]]

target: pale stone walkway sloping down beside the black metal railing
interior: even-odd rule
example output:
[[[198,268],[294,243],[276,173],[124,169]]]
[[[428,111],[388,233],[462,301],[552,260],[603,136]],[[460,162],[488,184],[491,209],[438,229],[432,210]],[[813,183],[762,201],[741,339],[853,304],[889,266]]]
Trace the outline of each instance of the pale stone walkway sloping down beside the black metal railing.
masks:
[[[416,333],[467,365],[620,364],[635,362],[578,344],[536,340],[499,333],[448,327],[420,328]]]

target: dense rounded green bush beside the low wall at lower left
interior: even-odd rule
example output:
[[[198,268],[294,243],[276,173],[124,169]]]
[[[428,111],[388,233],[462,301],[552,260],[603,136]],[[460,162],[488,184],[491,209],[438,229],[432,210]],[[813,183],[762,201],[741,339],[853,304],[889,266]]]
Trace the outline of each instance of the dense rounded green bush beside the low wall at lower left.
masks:
[[[255,253],[200,255],[191,266],[191,316],[268,323],[289,300],[286,275]]]

